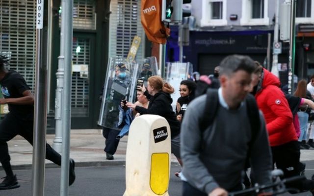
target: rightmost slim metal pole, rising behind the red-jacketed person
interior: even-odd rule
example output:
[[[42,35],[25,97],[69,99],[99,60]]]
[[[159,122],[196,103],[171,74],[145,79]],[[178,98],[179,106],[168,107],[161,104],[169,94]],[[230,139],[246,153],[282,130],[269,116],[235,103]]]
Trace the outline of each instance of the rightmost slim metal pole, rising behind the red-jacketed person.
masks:
[[[291,16],[290,16],[290,47],[289,47],[289,71],[288,71],[288,93],[293,93],[294,85],[294,53],[295,53],[295,0],[291,0]]]

